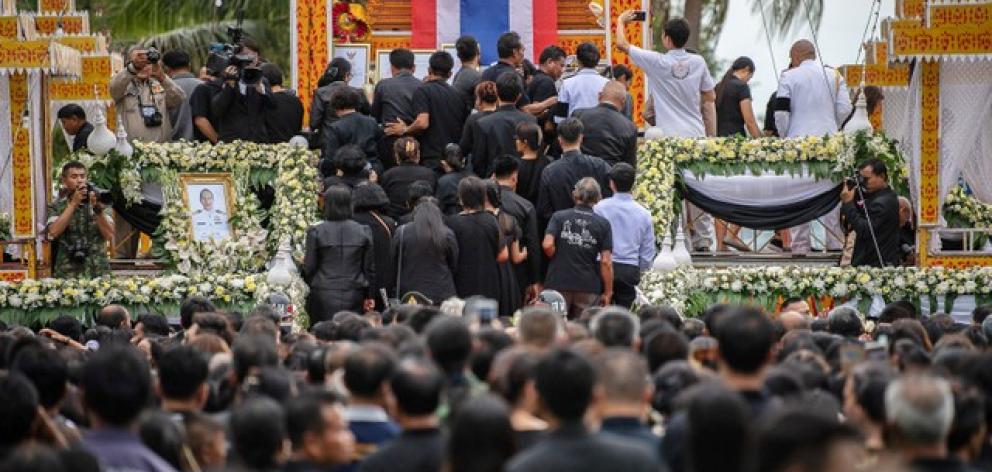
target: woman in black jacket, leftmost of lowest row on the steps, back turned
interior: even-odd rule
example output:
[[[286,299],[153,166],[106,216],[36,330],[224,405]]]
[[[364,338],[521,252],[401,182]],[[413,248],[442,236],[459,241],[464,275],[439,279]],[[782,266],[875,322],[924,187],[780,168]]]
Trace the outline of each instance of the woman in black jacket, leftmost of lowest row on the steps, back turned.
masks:
[[[303,280],[310,286],[307,313],[313,323],[339,311],[363,313],[373,307],[372,232],[351,217],[351,189],[337,185],[324,194],[326,221],[307,230]]]

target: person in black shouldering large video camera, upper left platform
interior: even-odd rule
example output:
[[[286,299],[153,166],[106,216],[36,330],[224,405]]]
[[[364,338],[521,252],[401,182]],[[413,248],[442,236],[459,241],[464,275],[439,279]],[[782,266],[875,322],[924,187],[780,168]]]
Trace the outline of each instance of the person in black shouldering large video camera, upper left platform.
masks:
[[[221,141],[269,142],[265,116],[275,109],[272,88],[262,75],[258,54],[239,47],[229,59],[221,79],[224,87],[211,100],[219,122]]]

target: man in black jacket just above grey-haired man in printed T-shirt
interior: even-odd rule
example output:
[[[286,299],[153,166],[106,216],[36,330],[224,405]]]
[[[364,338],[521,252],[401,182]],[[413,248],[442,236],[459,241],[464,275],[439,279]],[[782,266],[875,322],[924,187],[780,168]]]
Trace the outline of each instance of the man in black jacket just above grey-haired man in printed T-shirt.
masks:
[[[552,162],[541,173],[541,183],[537,197],[537,216],[544,221],[560,210],[572,208],[572,189],[583,177],[592,177],[599,182],[601,189],[608,192],[610,166],[606,161],[582,154],[582,137],[585,127],[578,118],[568,118],[558,125],[558,142],[561,144],[561,159]]]

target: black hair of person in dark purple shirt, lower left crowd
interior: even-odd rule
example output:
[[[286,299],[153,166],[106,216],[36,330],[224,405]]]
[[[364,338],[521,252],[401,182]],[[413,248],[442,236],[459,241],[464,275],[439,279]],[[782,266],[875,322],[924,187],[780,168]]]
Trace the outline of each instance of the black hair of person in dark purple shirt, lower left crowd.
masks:
[[[130,346],[102,346],[83,367],[83,403],[111,426],[130,425],[148,405],[151,374]]]

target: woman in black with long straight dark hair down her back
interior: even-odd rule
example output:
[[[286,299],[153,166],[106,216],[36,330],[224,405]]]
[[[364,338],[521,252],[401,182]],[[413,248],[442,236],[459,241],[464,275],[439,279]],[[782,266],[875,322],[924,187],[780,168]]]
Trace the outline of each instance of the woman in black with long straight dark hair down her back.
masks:
[[[413,210],[413,221],[400,226],[393,238],[397,298],[420,292],[433,305],[456,295],[458,241],[444,224],[437,200],[427,197]]]

